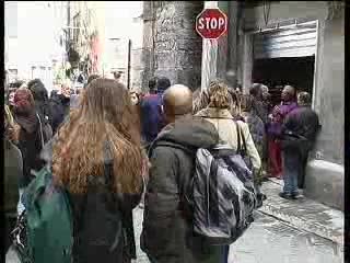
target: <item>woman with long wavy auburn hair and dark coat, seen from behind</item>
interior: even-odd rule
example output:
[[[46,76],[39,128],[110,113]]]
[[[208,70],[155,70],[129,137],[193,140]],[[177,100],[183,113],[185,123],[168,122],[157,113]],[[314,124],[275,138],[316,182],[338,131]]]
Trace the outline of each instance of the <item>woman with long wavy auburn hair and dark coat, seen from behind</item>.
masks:
[[[136,259],[132,209],[142,192],[138,115],[128,90],[110,79],[86,87],[52,144],[52,174],[73,210],[73,262]]]

